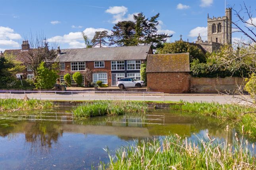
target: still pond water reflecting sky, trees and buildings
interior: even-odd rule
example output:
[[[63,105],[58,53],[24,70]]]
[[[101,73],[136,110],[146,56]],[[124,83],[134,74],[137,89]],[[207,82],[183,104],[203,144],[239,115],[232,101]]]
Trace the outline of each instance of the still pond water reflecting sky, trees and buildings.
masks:
[[[149,110],[141,115],[102,116],[73,121],[72,116],[65,113],[70,109],[44,111],[47,112],[44,116],[48,117],[2,117],[0,169],[91,169],[100,161],[108,162],[108,155],[103,149],[106,146],[114,153],[119,146],[132,144],[134,140],[169,133],[192,140],[196,139],[193,134],[207,138],[208,133],[212,138],[220,139],[227,136],[225,125],[219,125],[218,120],[180,111]],[[54,112],[58,112],[58,115]],[[24,115],[24,112],[15,115],[19,114]],[[33,112],[30,111],[30,114]],[[52,121],[54,119],[62,121]],[[234,134],[235,129],[231,128],[228,132],[229,142]]]

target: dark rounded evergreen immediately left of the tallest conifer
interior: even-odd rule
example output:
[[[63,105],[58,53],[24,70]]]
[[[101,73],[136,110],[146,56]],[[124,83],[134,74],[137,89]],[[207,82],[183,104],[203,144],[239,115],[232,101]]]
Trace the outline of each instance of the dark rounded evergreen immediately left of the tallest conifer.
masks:
[[[110,35],[110,45],[131,46],[135,35],[135,23],[133,21],[119,21],[113,26]]]

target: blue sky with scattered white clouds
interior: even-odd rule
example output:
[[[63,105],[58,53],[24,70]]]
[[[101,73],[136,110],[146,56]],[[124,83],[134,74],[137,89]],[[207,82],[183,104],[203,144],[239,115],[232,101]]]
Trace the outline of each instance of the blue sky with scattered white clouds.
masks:
[[[255,12],[256,0],[244,0]],[[111,29],[118,21],[160,13],[158,32],[173,35],[168,42],[207,40],[209,17],[225,15],[225,7],[240,9],[241,0],[0,0],[0,51],[19,49],[30,33],[43,32],[61,49],[83,48],[81,32],[90,39],[95,31]],[[253,13],[256,22],[256,15]],[[233,21],[236,17],[233,15]],[[233,40],[243,34],[233,33]]]

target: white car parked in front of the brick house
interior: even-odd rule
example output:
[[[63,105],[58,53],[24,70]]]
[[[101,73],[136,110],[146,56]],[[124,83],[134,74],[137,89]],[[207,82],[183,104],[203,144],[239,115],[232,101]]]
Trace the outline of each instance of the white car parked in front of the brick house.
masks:
[[[121,78],[117,81],[117,87],[119,87],[120,89],[123,89],[125,87],[142,87],[145,86],[144,81],[138,81],[134,78]]]

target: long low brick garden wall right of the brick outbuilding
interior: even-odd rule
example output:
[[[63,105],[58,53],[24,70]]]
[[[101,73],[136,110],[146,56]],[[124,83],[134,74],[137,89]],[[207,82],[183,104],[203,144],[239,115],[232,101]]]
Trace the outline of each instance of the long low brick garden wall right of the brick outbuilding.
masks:
[[[234,89],[237,89],[237,85],[243,84],[243,78],[241,77],[191,77],[190,80],[190,91],[192,93],[218,93],[218,91],[233,91]]]

